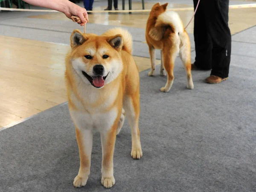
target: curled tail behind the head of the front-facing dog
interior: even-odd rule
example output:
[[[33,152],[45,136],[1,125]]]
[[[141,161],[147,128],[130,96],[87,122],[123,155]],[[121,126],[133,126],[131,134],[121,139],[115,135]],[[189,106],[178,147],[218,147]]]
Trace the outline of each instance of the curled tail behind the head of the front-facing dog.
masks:
[[[125,50],[129,54],[132,54],[132,36],[131,36],[131,33],[128,32],[128,30],[122,29],[120,27],[116,27],[113,29],[109,29],[102,35],[114,36],[119,34],[122,35],[122,40],[123,40],[122,50]]]

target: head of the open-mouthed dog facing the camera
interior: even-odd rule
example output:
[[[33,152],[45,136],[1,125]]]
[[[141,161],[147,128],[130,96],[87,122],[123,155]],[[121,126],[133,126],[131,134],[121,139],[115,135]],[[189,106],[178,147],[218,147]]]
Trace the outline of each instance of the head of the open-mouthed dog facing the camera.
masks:
[[[70,64],[86,84],[102,88],[122,71],[122,35],[98,36],[74,30],[70,37]]]

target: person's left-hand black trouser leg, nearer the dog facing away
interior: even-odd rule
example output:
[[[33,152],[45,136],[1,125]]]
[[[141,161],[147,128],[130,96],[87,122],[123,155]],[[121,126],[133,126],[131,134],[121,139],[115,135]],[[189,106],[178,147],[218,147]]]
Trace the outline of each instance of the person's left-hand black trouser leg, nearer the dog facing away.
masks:
[[[194,10],[198,0],[193,0]],[[195,39],[195,66],[210,70],[212,67],[212,40],[207,32],[207,21],[205,20],[205,0],[201,0],[194,18],[194,39]]]

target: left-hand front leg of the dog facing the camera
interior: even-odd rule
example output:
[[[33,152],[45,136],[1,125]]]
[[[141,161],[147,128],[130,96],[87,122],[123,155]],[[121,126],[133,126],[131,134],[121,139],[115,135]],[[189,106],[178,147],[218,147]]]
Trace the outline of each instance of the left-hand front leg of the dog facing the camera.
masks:
[[[80,168],[75,177],[75,187],[85,186],[90,175],[90,159],[93,146],[93,132],[91,130],[76,128],[76,140],[79,147]]]

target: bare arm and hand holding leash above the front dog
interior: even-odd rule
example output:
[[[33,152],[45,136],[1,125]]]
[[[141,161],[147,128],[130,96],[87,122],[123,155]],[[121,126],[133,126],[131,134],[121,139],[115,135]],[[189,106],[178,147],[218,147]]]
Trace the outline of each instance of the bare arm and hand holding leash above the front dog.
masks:
[[[78,16],[81,20],[79,24],[84,26],[88,20],[88,14],[86,9],[70,2],[69,0],[24,0],[34,6],[45,7],[48,9],[56,10],[64,13],[68,18],[71,16]],[[87,18],[87,20],[85,19]]]

